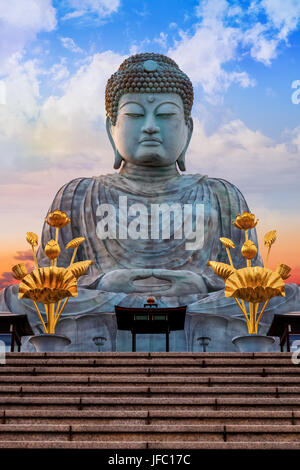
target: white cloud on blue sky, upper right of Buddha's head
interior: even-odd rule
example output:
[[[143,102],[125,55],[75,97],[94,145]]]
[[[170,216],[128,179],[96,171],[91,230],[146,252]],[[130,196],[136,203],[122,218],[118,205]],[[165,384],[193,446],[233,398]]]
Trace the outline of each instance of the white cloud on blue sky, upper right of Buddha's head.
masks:
[[[179,32],[168,55],[195,85],[201,85],[206,100],[216,104],[234,83],[244,88],[255,85],[238,63],[250,55],[270,65],[282,40],[297,28],[300,2],[253,1],[242,9],[227,0],[204,0],[196,14],[199,21],[191,30]]]

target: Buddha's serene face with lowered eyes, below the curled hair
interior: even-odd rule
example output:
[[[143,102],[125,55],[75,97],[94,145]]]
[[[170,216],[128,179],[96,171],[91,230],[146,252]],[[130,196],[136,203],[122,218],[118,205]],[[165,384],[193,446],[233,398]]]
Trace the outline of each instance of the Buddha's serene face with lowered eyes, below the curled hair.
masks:
[[[128,93],[119,100],[117,122],[110,126],[122,158],[135,165],[169,166],[185,149],[191,128],[176,93]]]

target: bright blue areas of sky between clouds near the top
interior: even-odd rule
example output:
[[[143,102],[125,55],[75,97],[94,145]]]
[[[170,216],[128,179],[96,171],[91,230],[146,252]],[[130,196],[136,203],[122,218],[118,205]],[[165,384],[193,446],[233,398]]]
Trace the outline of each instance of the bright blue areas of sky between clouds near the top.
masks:
[[[106,3],[111,7],[105,7]],[[268,10],[265,5],[272,3],[277,8],[277,22],[276,8],[272,21],[266,13]],[[295,11],[298,14],[298,0],[284,5],[279,1],[222,0],[79,2],[79,5],[85,5],[85,9],[76,8],[76,2],[56,0],[52,2],[55,28],[39,31],[35,39],[28,43],[30,47],[23,51],[24,59],[36,59],[42,68],[48,70],[63,60],[68,71],[75,73],[79,65],[93,54],[107,50],[120,55],[129,55],[135,50],[168,53],[182,41],[182,34],[191,38],[201,28],[206,4],[223,5],[222,24],[227,29],[238,31],[241,38],[237,41],[232,58],[224,61],[221,66],[228,72],[247,73],[253,83],[243,87],[240,83],[232,82],[226,93],[219,96],[218,102],[213,103],[211,112],[230,111],[251,129],[260,130],[265,135],[280,140],[282,132],[287,128],[295,128],[299,123],[299,109],[291,102],[291,83],[299,75],[300,32],[299,23],[292,21],[292,13],[288,15],[289,3],[292,13]],[[102,10],[101,5],[104,5]],[[202,12],[199,11],[201,8]],[[233,13],[235,9],[237,14],[229,13],[230,9]],[[272,11],[270,8],[269,10]],[[282,10],[287,11],[285,15]],[[243,44],[243,34],[245,37],[246,32],[253,30],[258,24],[265,28],[260,37],[269,43],[278,41],[273,55],[265,53],[264,57],[253,58],[253,44]],[[288,25],[288,32],[278,40],[285,25]],[[257,34],[256,38],[258,37]],[[57,85],[52,83],[49,86],[47,80],[41,80],[41,96],[46,97],[50,93],[61,95],[63,91]],[[200,83],[195,83],[195,88],[196,98],[207,104],[201,80]],[[214,127],[208,125],[207,131],[211,130]]]

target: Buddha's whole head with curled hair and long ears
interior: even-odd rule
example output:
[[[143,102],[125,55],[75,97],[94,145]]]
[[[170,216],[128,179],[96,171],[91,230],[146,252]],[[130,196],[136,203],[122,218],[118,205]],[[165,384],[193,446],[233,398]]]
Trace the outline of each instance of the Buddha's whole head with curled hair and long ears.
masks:
[[[185,170],[193,131],[191,81],[169,57],[137,54],[126,59],[106,85],[107,132],[122,161]]]

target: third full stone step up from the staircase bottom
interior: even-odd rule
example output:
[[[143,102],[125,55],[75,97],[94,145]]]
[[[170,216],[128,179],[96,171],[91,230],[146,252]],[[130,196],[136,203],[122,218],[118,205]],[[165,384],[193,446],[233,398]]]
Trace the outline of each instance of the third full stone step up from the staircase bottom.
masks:
[[[44,409],[115,409],[143,410],[143,409],[169,409],[170,406],[182,410],[213,409],[230,410],[236,408],[256,407],[257,409],[273,410],[300,410],[300,397],[23,397],[1,396],[0,412],[6,409],[26,409],[28,407]]]

